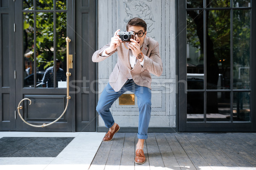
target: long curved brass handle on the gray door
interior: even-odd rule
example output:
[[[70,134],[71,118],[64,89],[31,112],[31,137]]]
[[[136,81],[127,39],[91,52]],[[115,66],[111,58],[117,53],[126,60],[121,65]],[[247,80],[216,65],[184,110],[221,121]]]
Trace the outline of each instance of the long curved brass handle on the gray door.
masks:
[[[71,99],[70,95],[69,95],[69,77],[71,76],[71,73],[69,72],[69,68],[73,68],[73,65],[72,67],[70,67],[70,62],[73,63],[73,59],[72,59],[72,55],[69,55],[69,42],[70,42],[70,38],[67,37],[66,38],[66,42],[67,42],[67,73],[66,73],[66,76],[67,76],[67,104],[66,104],[66,107],[63,111],[63,113],[61,114],[61,116],[58,117],[58,119],[56,119],[55,121],[53,122],[50,122],[48,124],[43,124],[43,125],[32,125],[30,124],[29,122],[26,122],[26,120],[23,119],[23,117],[21,116],[20,114],[20,110],[23,108],[22,106],[20,106],[21,102],[23,102],[24,100],[29,100],[29,105],[31,105],[31,100],[29,98],[24,98],[22,100],[20,100],[19,104],[18,104],[18,113],[19,113],[19,116],[20,116],[20,119],[25,122],[27,125],[29,126],[33,126],[33,127],[46,127],[46,126],[49,126],[49,125],[52,125],[53,123],[57,122],[59,119],[61,119],[61,117],[64,115],[64,113],[67,111],[67,106],[68,106],[68,101]],[[70,59],[71,58],[71,59]]]

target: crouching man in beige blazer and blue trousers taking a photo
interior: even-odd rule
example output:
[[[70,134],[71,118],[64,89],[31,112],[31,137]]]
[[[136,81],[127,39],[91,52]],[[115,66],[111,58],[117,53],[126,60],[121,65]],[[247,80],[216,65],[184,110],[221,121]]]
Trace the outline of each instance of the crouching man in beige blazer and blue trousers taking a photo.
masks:
[[[126,26],[127,31],[134,31],[136,40],[122,42],[117,30],[111,42],[93,54],[93,62],[100,62],[117,51],[118,61],[113,69],[109,83],[103,90],[97,112],[109,128],[103,141],[111,141],[113,135],[120,129],[114,120],[109,108],[125,91],[133,92],[138,99],[139,126],[138,143],[136,145],[135,163],[143,164],[144,140],[148,138],[148,125],[151,114],[151,74],[160,76],[163,64],[159,54],[159,44],[150,37],[146,37],[147,24],[140,18],[131,19]]]

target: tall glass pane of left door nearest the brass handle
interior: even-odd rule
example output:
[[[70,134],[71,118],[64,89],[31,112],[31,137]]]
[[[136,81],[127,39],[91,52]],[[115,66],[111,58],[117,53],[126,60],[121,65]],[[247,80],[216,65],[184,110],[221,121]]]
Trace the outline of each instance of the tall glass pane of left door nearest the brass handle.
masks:
[[[56,13],[56,58],[60,60],[60,68],[57,70],[57,86],[66,88],[66,72],[67,72],[67,13]],[[56,63],[58,66],[58,63]],[[61,82],[63,85],[61,85]]]

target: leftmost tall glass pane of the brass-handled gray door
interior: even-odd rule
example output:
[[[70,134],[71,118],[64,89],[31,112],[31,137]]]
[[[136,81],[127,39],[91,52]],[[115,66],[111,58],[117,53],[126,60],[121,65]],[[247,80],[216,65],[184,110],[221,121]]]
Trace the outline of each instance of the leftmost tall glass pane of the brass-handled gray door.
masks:
[[[23,13],[24,87],[34,87],[34,14]]]

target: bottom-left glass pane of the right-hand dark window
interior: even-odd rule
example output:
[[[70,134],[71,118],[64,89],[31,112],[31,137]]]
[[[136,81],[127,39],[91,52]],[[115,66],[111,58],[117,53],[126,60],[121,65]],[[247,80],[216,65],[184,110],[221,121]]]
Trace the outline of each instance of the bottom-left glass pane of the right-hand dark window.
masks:
[[[204,121],[204,92],[187,93],[187,122]]]

